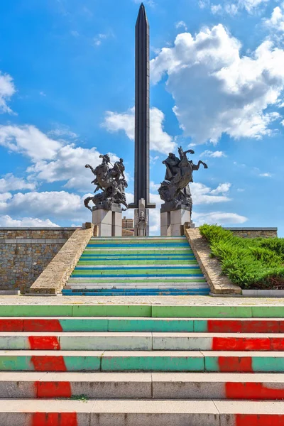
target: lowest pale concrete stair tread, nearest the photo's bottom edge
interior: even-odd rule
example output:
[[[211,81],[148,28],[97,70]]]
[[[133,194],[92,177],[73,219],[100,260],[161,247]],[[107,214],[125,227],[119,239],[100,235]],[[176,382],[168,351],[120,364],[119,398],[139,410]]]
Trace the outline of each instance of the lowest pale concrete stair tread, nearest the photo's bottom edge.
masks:
[[[0,400],[0,413],[219,413],[284,414],[282,401],[224,400]],[[24,414],[24,413],[23,413]],[[249,425],[248,425],[249,426]]]

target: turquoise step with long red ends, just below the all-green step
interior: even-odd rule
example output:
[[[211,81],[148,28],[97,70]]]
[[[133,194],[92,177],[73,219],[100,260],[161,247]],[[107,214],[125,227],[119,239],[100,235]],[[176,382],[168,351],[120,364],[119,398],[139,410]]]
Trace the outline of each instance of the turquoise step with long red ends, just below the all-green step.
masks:
[[[0,317],[0,332],[284,333],[284,320],[147,317]]]

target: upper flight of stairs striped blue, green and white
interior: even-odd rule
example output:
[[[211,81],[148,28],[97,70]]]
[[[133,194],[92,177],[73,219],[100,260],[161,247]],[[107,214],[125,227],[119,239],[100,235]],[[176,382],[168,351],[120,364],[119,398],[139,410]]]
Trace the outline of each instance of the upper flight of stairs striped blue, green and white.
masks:
[[[92,238],[67,286],[70,295],[208,295],[185,237]]]

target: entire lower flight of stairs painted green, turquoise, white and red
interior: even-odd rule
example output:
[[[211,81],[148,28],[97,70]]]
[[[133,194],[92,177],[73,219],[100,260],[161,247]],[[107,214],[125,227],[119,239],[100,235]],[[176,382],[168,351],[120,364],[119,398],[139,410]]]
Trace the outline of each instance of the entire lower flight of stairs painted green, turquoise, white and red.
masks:
[[[0,306],[1,426],[282,426],[284,308]]]

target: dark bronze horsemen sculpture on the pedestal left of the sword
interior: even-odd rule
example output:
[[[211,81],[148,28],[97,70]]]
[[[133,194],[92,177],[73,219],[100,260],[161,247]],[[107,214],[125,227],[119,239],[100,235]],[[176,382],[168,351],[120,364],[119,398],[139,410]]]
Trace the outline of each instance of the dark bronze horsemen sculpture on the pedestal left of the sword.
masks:
[[[99,155],[99,158],[102,158],[102,164],[97,165],[96,168],[92,168],[92,165],[89,164],[86,164],[85,167],[92,170],[95,176],[92,181],[96,185],[94,193],[99,190],[102,190],[102,192],[93,197],[87,197],[84,200],[85,207],[92,212],[92,208],[89,207],[89,202],[92,201],[97,208],[110,210],[113,204],[124,204],[126,209],[128,209],[129,206],[125,196],[125,188],[128,185],[124,176],[123,158],[116,161],[114,166],[111,165],[109,154]],[[109,168],[109,165],[112,168]]]

